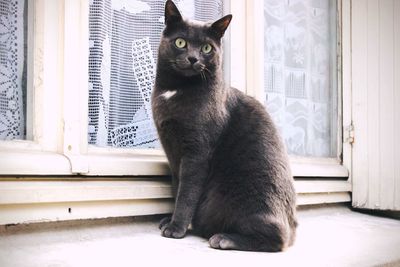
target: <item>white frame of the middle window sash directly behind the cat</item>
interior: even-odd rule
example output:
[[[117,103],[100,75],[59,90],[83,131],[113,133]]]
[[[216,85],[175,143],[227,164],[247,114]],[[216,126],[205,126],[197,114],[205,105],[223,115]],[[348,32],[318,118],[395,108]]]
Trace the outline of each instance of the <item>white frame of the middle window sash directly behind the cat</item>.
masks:
[[[66,1],[66,14],[70,12],[70,14],[80,14],[81,18],[81,33],[77,31],[69,31],[66,32],[66,43],[71,45],[70,51],[76,51],[76,49],[81,50],[81,58],[88,58],[88,26],[89,25],[89,3],[87,0],[73,0]],[[229,11],[229,1],[224,2],[224,11]],[[86,11],[82,11],[85,10]],[[65,16],[69,18],[70,16]],[[72,16],[73,17],[73,16]],[[76,23],[74,21],[66,20],[66,25],[69,23]],[[83,25],[86,25],[85,30],[83,30]],[[75,25],[76,26],[76,25]],[[74,26],[71,25],[71,29]],[[78,36],[79,35],[79,36]],[[225,43],[229,44],[229,33],[226,34]],[[75,46],[75,49],[72,49],[72,46]],[[68,49],[68,46],[65,46]],[[83,51],[83,48],[86,49]],[[230,56],[230,46],[226,45],[226,52],[224,58],[228,59],[228,62],[225,61],[226,65],[229,64],[229,56]],[[66,58],[69,58],[66,56]],[[77,62],[76,62],[77,63]],[[87,176],[126,176],[126,175],[169,175],[169,167],[168,161],[166,159],[165,153],[162,150],[153,150],[153,149],[135,149],[135,148],[113,148],[113,147],[98,147],[95,145],[88,144],[87,140],[87,96],[88,96],[88,88],[87,83],[83,86],[83,81],[88,81],[88,73],[87,73],[87,62],[85,62],[85,66],[81,68],[74,68],[72,66],[76,64],[65,64],[66,69],[69,68],[66,72],[69,73],[70,77],[77,77],[80,75],[82,83],[80,85],[75,84],[73,86],[74,92],[71,91],[70,95],[70,103],[74,103],[74,96],[79,95],[80,99],[85,99],[85,102],[82,106],[85,105],[85,109],[82,108],[82,111],[78,114],[75,112],[74,118],[69,122],[71,127],[67,127],[70,129],[70,134],[66,134],[64,136],[64,144],[68,144],[64,146],[65,154],[71,160],[71,168],[72,173],[87,175]],[[81,64],[82,66],[84,64]],[[85,71],[84,71],[85,69]],[[67,74],[66,74],[66,77]],[[229,80],[230,73],[225,72],[225,77]],[[67,78],[68,80],[68,78]],[[76,82],[76,80],[75,80]],[[78,89],[81,87],[80,89]],[[66,88],[72,88],[71,85],[66,85]],[[66,104],[65,106],[68,106]],[[85,122],[85,125],[76,122]],[[75,123],[74,123],[75,122]],[[75,126],[73,126],[75,125]],[[80,129],[79,129],[79,127]],[[79,141],[78,138],[79,136]],[[68,149],[72,147],[72,149]],[[74,149],[75,147],[75,149]]]

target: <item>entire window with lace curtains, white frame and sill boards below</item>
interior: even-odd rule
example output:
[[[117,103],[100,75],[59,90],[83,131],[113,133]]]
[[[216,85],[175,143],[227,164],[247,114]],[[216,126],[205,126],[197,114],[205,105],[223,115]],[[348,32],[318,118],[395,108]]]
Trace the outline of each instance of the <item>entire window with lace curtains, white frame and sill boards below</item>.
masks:
[[[339,130],[342,119],[344,125],[351,121],[351,68],[343,63],[342,115],[335,49],[342,33],[335,37],[342,22],[336,17],[343,16],[343,59],[350,58],[350,1],[337,0],[337,9],[328,0],[174,2],[199,20],[234,15],[224,37],[226,81],[265,103],[280,127],[298,203],[349,201],[348,170],[338,155],[343,145],[344,162],[351,165],[351,145],[342,142]],[[0,210],[8,212],[1,222],[171,210],[169,168],[149,112],[163,6],[164,0],[1,1],[0,175],[46,179],[0,181]],[[283,13],[291,17],[279,17]],[[8,21],[15,14],[20,17]],[[292,24],[304,36],[288,37]],[[17,46],[9,43],[7,29],[13,27],[13,38],[22,38]],[[312,44],[319,46],[308,49]],[[316,54],[323,55],[321,61]],[[12,63],[15,79],[6,65]],[[300,115],[293,113],[295,106]],[[332,179],[320,179],[326,177]],[[69,213],[71,205],[80,213]]]

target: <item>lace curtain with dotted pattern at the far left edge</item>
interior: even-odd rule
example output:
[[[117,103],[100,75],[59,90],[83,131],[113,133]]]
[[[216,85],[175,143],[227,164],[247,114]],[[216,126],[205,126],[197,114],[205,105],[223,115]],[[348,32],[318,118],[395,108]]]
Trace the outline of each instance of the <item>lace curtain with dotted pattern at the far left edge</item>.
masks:
[[[24,1],[0,1],[0,140],[25,137]]]

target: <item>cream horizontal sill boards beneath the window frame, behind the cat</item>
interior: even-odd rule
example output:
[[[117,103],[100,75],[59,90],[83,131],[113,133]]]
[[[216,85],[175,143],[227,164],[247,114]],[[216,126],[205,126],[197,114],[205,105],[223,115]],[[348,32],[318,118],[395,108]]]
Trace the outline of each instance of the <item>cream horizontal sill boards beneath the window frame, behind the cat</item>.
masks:
[[[350,202],[347,181],[295,181],[297,204]],[[0,181],[0,225],[171,213],[169,179],[27,177]]]

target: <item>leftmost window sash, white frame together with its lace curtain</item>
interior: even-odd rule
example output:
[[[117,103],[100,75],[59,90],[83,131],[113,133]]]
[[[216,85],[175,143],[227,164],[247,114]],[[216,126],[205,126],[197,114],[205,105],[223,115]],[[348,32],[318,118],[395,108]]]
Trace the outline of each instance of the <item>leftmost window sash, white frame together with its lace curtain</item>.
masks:
[[[61,10],[58,0],[1,1],[0,175],[71,174]]]

